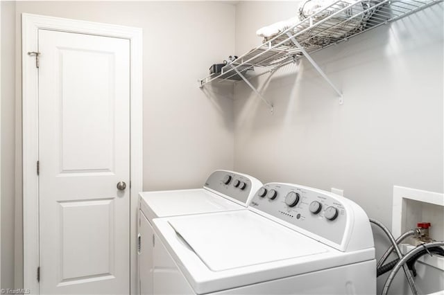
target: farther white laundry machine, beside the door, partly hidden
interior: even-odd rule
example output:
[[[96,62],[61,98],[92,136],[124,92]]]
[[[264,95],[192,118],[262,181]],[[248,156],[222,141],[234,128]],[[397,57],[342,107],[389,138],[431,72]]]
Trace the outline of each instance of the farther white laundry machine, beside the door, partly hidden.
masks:
[[[203,188],[139,193],[138,275],[140,294],[153,294],[152,222],[157,217],[246,210],[262,183],[227,170],[212,172]]]

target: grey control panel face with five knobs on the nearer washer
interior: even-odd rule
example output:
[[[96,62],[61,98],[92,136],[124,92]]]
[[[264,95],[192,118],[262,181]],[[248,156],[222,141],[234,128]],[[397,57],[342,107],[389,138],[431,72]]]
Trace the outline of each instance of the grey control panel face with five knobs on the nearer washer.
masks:
[[[341,244],[349,222],[347,206],[341,199],[344,198],[323,190],[271,183],[257,190],[250,208],[293,224],[311,238]]]

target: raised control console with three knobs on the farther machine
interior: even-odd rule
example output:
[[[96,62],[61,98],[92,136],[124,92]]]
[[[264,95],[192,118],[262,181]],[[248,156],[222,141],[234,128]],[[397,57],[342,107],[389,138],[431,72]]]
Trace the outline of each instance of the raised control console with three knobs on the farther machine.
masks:
[[[250,175],[216,170],[205,181],[204,188],[215,190],[247,206],[261,186],[262,183]]]

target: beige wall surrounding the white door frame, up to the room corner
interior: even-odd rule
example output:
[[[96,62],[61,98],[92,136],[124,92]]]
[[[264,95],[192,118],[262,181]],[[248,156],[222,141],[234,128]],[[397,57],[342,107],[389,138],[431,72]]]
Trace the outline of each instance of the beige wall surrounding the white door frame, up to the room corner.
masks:
[[[234,52],[233,5],[2,1],[1,8],[1,287],[22,286],[22,13],[143,29],[144,190],[197,188],[212,170],[232,170],[232,91],[203,91],[197,80]]]

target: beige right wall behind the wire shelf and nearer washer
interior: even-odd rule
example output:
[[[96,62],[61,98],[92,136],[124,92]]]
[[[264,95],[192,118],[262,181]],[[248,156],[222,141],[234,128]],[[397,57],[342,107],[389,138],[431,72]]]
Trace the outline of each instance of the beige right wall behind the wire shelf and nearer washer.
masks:
[[[297,9],[293,1],[241,1],[237,54],[262,42],[258,28]],[[443,35],[441,3],[315,53],[343,105],[305,58],[252,80],[273,114],[237,84],[234,169],[264,182],[343,189],[390,229],[394,185],[443,192]],[[378,230],[375,240],[385,251]]]

